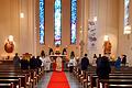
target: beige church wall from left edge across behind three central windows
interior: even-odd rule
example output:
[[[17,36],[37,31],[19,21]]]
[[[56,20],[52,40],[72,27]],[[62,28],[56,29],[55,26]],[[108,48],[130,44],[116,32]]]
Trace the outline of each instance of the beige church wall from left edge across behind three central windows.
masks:
[[[32,53],[40,55],[42,50],[48,51],[54,46],[54,0],[45,0],[45,44],[38,43],[38,29],[35,25],[35,2],[38,0],[1,0],[0,1],[0,54],[6,55],[3,50],[4,41],[9,35],[14,36],[15,48],[20,55]],[[67,47],[68,53],[76,51],[79,56],[79,30],[81,21],[81,1],[78,0],[77,44],[70,45],[70,0],[62,0],[62,45],[61,51]],[[20,12],[24,18],[20,18]],[[38,19],[37,19],[38,20]],[[3,30],[4,29],[4,30]],[[69,54],[68,54],[69,55]]]

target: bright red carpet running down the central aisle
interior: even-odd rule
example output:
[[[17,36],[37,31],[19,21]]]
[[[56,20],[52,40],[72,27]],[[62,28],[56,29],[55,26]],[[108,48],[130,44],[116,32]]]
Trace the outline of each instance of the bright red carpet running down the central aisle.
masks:
[[[53,72],[47,88],[70,88],[64,72]]]

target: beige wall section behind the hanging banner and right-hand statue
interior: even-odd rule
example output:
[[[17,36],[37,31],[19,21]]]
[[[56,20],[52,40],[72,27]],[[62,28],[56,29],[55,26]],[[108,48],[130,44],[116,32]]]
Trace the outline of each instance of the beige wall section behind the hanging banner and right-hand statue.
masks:
[[[111,55],[117,55],[118,46],[118,21],[119,21],[119,0],[89,0],[89,19],[97,16],[97,42],[96,47],[92,48],[89,45],[88,54],[92,59],[94,54],[103,55],[103,36],[109,35],[109,40],[112,44]],[[89,42],[89,40],[88,40]]]

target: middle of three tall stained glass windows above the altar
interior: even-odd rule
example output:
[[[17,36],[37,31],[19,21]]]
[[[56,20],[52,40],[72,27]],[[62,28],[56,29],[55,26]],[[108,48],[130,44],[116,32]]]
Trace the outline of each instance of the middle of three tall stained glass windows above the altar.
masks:
[[[55,45],[61,45],[61,42],[62,42],[62,0],[55,0],[54,9],[55,9],[55,11],[54,11],[55,12],[55,14],[54,14]]]

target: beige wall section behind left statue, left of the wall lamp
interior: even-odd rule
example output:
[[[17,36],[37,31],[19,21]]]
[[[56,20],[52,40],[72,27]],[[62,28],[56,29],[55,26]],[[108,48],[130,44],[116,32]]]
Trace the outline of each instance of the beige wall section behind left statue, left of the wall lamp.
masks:
[[[4,56],[4,41],[9,35],[14,36],[15,50],[19,50],[19,1],[18,0],[0,0],[0,55]],[[10,54],[12,55],[12,54]]]

